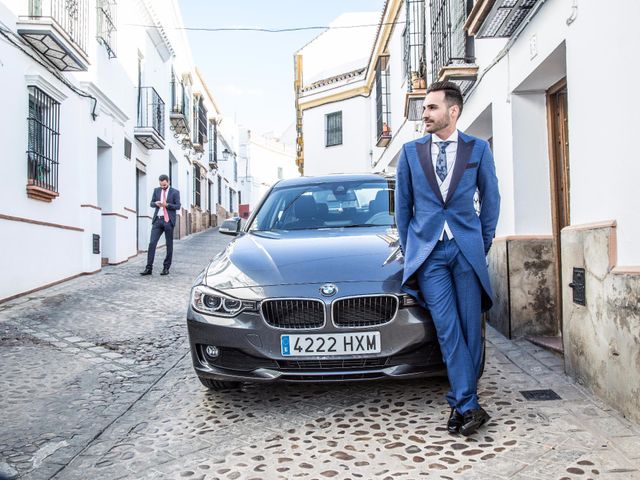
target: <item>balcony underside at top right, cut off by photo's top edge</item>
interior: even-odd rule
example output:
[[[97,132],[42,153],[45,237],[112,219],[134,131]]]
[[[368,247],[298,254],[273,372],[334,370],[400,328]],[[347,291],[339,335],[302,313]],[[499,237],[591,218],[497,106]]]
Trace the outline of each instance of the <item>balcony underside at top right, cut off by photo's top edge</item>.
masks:
[[[538,0],[476,0],[465,28],[476,38],[508,38]]]

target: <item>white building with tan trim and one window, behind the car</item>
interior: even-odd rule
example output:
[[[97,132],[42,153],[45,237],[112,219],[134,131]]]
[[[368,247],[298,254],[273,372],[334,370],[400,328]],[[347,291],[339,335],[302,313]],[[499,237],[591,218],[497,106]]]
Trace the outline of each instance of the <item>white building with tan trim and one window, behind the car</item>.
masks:
[[[379,12],[343,14],[296,52],[296,103],[305,131],[304,159],[299,150],[297,162],[305,175],[371,167],[370,101],[363,93],[379,19]],[[343,98],[353,91],[361,93]]]

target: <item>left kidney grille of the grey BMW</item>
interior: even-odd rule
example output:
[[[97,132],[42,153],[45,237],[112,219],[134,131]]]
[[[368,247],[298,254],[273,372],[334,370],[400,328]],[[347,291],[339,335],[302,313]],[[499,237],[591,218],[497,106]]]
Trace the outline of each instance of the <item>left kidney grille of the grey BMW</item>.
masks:
[[[324,303],[320,300],[265,300],[262,317],[277,328],[319,328],[324,325]]]

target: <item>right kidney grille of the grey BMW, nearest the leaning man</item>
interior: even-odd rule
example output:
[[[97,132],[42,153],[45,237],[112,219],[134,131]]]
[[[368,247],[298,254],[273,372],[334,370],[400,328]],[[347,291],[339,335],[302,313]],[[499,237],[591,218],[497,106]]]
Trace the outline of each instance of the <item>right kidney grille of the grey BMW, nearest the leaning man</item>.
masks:
[[[333,323],[338,327],[369,327],[390,322],[398,310],[398,299],[392,295],[356,297],[336,300]]]

